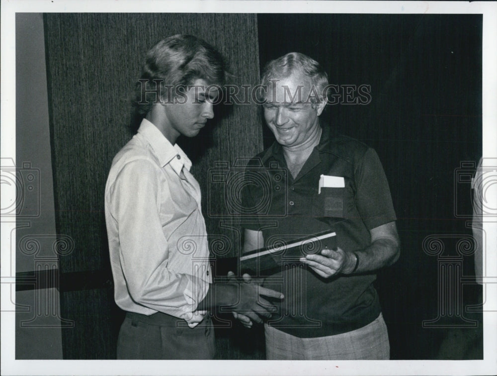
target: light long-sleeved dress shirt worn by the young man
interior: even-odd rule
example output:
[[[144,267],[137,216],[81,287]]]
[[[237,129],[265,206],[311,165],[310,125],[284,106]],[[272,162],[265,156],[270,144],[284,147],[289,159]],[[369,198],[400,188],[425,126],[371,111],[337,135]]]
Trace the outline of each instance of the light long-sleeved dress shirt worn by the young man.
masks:
[[[164,312],[193,327],[212,282],[200,187],[191,161],[144,119],[112,161],[105,221],[114,298],[125,311]]]

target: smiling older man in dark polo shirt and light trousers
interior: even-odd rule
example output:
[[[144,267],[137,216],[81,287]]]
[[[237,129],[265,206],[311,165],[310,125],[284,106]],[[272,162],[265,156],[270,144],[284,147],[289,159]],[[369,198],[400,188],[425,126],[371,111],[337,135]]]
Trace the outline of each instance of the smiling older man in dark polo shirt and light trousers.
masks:
[[[285,295],[280,314],[265,323],[267,359],[389,359],[372,283],[376,270],[398,259],[399,239],[378,156],[320,121],[328,77],[318,62],[289,53],[266,65],[262,85],[276,142],[252,163],[267,168],[270,181],[286,174],[272,185],[269,208],[243,223],[244,251],[322,231],[335,232],[337,244],[266,279]],[[247,185],[244,206],[257,207],[264,194],[261,185]]]

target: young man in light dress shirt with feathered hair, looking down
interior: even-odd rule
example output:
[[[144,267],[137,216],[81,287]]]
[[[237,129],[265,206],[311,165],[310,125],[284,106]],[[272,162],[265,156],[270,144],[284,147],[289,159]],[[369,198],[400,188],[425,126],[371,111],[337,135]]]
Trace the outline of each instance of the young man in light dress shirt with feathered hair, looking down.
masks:
[[[176,139],[196,136],[213,118],[224,78],[221,54],[191,35],[147,54],[135,103],[144,118],[105,187],[114,297],[127,312],[118,359],[212,359],[208,309],[231,306],[260,321],[270,305],[259,294],[281,296],[254,284],[211,284],[200,188]]]

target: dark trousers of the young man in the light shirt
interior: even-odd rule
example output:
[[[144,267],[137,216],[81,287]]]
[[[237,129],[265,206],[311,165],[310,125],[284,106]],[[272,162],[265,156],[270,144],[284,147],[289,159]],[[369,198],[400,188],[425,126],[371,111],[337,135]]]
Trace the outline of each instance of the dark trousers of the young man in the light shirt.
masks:
[[[184,320],[155,313],[126,313],[117,340],[117,359],[213,359],[214,327],[207,315],[194,328]]]

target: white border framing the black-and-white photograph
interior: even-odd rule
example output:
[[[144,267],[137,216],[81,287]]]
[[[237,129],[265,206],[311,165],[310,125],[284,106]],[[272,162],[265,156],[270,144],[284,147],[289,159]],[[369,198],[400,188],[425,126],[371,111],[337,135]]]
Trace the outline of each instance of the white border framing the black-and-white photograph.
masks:
[[[199,13],[472,13],[483,14],[483,157],[497,154],[497,2],[463,1],[1,1],[1,156],[15,159],[16,12],[191,12]],[[497,197],[493,197],[497,200]],[[489,203],[497,207],[496,202]],[[492,206],[493,205],[493,206]],[[496,222],[484,230],[497,234]],[[1,259],[8,260],[9,233],[2,225]],[[497,249],[489,237],[489,249]],[[12,244],[15,244],[12,243]],[[497,276],[497,253],[487,252],[488,273]],[[10,276],[7,263],[3,276]],[[14,269],[15,270],[15,269]],[[495,280],[495,278],[494,278]],[[2,289],[3,291],[3,289]],[[484,360],[481,361],[68,361],[15,360],[14,312],[1,312],[2,375],[493,375],[497,357],[497,283],[487,285]],[[9,296],[2,294],[2,301]]]

